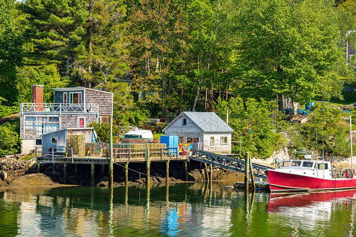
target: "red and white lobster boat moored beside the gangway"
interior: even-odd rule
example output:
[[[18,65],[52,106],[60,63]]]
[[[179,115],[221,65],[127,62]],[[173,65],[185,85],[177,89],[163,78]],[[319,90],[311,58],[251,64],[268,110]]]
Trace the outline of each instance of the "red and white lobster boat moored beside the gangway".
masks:
[[[278,169],[267,169],[271,192],[325,191],[356,188],[351,172],[331,169],[330,162],[288,160]],[[350,170],[351,171],[351,170]],[[336,178],[340,176],[342,178]],[[350,178],[348,178],[350,177]]]

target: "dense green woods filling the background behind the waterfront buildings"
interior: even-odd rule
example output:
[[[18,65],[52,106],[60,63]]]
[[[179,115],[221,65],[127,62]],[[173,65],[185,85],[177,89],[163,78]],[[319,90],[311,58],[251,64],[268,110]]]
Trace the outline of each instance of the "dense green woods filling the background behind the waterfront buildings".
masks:
[[[44,102],[52,101],[53,87],[102,88],[114,93],[118,128],[183,110],[223,118],[229,108],[242,151],[269,157],[285,143],[277,98],[342,99],[354,75],[343,51],[354,42],[355,6],[355,0],[0,0],[0,117],[31,101],[32,84],[44,85]],[[106,125],[95,126],[105,137]]]

